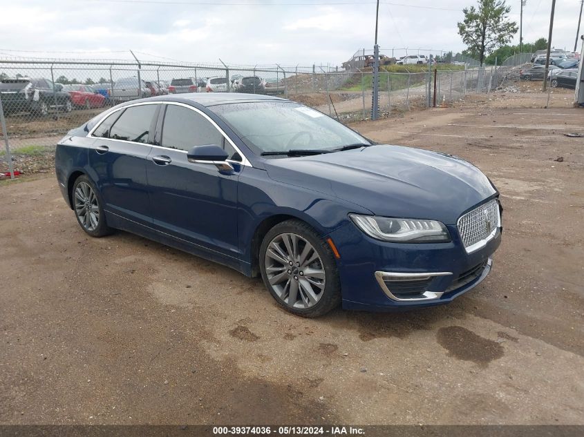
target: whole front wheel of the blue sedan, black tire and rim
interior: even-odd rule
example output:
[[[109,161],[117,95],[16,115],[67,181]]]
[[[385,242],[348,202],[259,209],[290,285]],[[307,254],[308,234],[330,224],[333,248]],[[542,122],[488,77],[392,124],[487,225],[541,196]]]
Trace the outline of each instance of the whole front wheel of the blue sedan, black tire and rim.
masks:
[[[335,255],[305,222],[276,224],[265,235],[258,258],[265,287],[287,311],[312,318],[341,302]]]

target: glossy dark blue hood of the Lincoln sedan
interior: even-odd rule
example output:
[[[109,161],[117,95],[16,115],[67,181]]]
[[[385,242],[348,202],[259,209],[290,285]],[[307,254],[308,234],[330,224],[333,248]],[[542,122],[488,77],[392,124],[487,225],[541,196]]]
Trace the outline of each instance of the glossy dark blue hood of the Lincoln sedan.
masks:
[[[375,215],[440,220],[497,194],[489,179],[458,157],[376,145],[337,153],[269,159],[271,179],[339,197]]]

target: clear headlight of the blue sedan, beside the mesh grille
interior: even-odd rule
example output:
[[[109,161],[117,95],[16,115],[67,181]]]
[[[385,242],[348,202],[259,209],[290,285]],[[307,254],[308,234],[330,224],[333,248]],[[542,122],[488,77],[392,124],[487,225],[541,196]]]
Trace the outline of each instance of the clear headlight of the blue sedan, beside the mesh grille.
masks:
[[[396,243],[449,242],[446,226],[436,220],[397,219],[349,214],[361,231],[376,240]]]

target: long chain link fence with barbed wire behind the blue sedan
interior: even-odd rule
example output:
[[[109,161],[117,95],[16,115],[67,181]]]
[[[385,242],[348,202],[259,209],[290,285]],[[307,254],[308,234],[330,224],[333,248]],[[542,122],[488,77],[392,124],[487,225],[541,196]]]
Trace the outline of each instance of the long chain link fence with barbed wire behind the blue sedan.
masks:
[[[455,64],[380,66],[379,115],[451,105],[469,94],[491,93],[519,79],[519,69]],[[343,123],[371,118],[371,68],[233,66],[137,61],[0,59],[0,128],[6,151],[55,146],[122,101],[181,93],[254,93],[298,101]]]

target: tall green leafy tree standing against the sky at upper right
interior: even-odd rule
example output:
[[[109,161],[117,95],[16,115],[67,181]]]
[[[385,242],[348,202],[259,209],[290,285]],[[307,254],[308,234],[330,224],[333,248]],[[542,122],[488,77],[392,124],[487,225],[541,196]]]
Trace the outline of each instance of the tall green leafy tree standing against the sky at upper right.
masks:
[[[478,0],[478,8],[464,8],[464,20],[458,23],[458,35],[467,44],[467,52],[484,64],[485,55],[508,43],[517,33],[515,21],[509,21],[511,7],[505,0]]]

